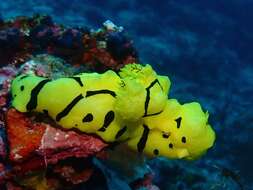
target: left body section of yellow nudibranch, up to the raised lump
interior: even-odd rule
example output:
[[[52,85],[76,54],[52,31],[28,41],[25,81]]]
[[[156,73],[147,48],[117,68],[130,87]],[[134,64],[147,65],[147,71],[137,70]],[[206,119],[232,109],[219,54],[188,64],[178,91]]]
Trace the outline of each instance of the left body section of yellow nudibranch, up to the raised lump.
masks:
[[[21,75],[12,82],[12,105],[21,112],[44,112],[64,128],[78,128],[110,142],[123,127],[113,109],[120,81],[112,71],[52,81]]]

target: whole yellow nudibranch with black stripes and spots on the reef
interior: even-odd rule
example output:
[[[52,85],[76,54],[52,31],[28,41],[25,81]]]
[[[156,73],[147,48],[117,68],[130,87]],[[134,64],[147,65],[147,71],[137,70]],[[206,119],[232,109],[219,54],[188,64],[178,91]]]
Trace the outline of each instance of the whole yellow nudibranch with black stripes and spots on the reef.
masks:
[[[122,142],[139,153],[195,159],[215,133],[196,103],[168,99],[170,80],[150,65],[129,64],[117,74],[81,73],[51,80],[19,75],[12,81],[12,106],[41,112],[64,128]]]

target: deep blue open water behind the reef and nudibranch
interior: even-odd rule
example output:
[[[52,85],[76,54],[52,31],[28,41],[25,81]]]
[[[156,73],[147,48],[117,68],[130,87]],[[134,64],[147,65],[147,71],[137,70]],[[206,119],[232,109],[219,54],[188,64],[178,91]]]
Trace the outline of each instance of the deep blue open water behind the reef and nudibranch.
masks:
[[[107,19],[123,26],[142,62],[171,78],[170,97],[210,112],[217,141],[203,160],[238,172],[253,189],[252,0],[0,2],[5,19],[34,13],[69,26],[98,28]]]

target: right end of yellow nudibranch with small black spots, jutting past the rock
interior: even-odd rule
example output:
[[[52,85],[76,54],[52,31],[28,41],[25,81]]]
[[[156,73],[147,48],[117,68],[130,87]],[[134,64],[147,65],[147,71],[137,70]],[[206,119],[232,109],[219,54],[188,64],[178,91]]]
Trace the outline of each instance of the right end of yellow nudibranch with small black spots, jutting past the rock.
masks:
[[[151,156],[193,160],[213,146],[215,133],[196,102],[170,99],[163,113],[144,119],[128,145]]]

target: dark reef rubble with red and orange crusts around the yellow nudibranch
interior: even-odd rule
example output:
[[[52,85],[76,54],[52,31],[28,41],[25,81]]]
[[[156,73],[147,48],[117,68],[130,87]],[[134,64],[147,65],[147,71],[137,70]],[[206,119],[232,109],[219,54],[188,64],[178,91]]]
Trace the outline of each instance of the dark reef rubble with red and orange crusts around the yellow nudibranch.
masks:
[[[240,179],[211,160],[194,164],[131,153],[111,156],[102,140],[66,131],[44,114],[10,108],[17,73],[57,78],[139,62],[122,27],[66,28],[49,16],[0,22],[0,185],[3,189],[236,189]],[[24,64],[25,63],[25,64]]]

